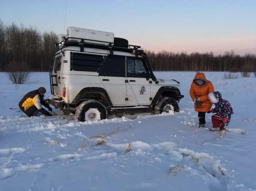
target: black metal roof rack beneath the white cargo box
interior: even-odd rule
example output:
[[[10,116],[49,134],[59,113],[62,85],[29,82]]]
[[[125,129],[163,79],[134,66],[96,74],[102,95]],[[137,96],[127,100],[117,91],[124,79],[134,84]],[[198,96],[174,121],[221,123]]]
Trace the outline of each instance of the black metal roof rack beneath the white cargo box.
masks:
[[[126,45],[128,46],[128,48],[124,48],[124,47],[112,46],[112,44],[114,44],[113,42],[98,41],[98,40],[85,39],[85,38],[74,38],[74,37],[66,38],[65,36],[63,36],[62,39],[63,41],[61,42],[55,42],[56,48],[62,49],[64,47],[69,47],[69,46],[80,46],[80,52],[84,51],[84,47],[89,47],[89,48],[99,48],[99,49],[110,50],[110,54],[113,54],[113,50],[135,54],[135,52],[137,51],[134,51],[134,50],[138,50],[141,47],[137,45],[128,44]],[[88,42],[88,41],[91,41],[91,42]],[[104,44],[97,44],[95,42],[100,42]],[[114,45],[116,44],[118,43],[115,43]],[[125,46],[125,44],[118,44],[118,45]],[[139,50],[139,51],[143,52],[143,50]]]

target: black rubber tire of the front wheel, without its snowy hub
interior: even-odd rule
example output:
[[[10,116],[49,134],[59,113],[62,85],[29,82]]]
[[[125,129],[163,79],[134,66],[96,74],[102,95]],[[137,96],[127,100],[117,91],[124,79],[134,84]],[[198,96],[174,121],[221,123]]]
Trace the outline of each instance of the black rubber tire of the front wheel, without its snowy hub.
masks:
[[[155,106],[155,113],[156,114],[160,114],[162,112],[164,112],[164,108],[167,104],[171,104],[174,108],[174,112],[179,112],[180,108],[178,105],[178,102],[175,101],[174,98],[170,98],[170,97],[163,97],[160,98]],[[167,112],[167,111],[166,111]]]

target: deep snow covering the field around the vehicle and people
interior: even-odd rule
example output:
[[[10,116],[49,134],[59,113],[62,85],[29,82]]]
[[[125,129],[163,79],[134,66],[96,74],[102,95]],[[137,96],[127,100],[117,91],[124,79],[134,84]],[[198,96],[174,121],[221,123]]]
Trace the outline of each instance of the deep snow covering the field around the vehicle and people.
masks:
[[[28,91],[44,86],[52,96],[48,73],[18,89],[0,73],[0,190],[255,190],[256,78],[205,72],[230,101],[228,127],[246,131],[239,134],[210,132],[211,114],[198,128],[189,96],[195,72],[155,75],[180,81],[180,113],[75,122],[57,109],[31,118],[19,110]]]

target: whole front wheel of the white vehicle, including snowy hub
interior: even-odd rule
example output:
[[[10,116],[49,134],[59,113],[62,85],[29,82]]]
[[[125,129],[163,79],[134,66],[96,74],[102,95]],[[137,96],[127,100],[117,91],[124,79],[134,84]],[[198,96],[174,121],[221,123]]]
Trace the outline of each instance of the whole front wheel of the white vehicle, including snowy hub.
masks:
[[[169,113],[169,111],[179,112],[180,108],[174,98],[163,97],[160,98],[155,106],[155,113],[160,114],[162,112]]]

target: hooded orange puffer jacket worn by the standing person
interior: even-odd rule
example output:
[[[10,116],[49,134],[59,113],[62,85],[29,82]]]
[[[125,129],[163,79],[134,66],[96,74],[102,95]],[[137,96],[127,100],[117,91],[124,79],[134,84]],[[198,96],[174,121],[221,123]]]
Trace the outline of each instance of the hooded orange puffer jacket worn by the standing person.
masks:
[[[201,86],[198,86],[194,82],[196,79],[204,80],[205,83]],[[200,73],[200,72],[196,73],[189,91],[192,100],[194,100],[196,97],[200,97],[201,106],[198,105],[197,107],[195,104],[195,111],[207,112],[211,109],[213,104],[208,97],[208,94],[210,92],[214,92],[214,87],[212,82],[208,81],[205,78],[204,73]]]

